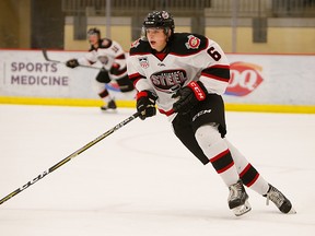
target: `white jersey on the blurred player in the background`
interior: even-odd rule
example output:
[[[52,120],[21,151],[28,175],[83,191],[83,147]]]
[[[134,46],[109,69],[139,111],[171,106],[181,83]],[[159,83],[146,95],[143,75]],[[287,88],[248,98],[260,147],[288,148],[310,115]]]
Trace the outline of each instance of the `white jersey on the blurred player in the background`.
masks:
[[[102,38],[100,47],[91,46],[88,54],[78,61],[80,64],[93,64],[100,61],[108,71],[110,79],[117,80],[127,75],[126,55],[122,47],[115,40]]]

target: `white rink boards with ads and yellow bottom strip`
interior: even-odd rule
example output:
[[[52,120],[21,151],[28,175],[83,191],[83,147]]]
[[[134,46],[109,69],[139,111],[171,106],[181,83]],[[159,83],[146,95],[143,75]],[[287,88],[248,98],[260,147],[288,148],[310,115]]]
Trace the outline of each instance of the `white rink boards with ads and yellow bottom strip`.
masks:
[[[48,51],[66,61],[85,51]],[[69,69],[44,59],[40,50],[0,50],[0,103],[100,106],[95,68]],[[315,113],[315,55],[228,54],[231,81],[228,110]],[[95,64],[94,67],[101,67]],[[115,82],[107,85],[120,107],[135,107]]]

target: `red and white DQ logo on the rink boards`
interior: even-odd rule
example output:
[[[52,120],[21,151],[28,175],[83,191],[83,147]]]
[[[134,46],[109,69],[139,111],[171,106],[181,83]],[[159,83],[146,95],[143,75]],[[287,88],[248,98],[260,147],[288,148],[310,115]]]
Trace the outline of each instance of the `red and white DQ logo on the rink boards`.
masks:
[[[246,96],[264,81],[259,71],[261,67],[246,62],[234,62],[230,66],[231,79],[225,94]]]

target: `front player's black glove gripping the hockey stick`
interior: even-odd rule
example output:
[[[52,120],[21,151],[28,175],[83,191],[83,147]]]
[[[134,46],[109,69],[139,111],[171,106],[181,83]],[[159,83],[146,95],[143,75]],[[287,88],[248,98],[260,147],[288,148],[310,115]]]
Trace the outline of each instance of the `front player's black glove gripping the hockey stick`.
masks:
[[[141,91],[137,94],[137,110],[140,111],[140,119],[156,115],[155,101],[158,97],[150,91]]]

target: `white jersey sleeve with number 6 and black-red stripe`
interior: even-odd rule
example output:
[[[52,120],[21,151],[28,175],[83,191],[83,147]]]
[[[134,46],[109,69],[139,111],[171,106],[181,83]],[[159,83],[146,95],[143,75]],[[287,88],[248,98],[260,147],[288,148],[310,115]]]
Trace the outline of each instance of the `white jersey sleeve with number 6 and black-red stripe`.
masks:
[[[199,80],[209,93],[224,94],[230,80],[230,63],[222,48],[209,40],[206,50],[198,55],[198,63],[202,64]]]

